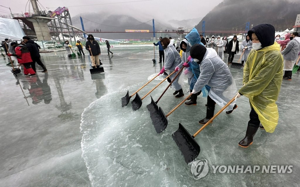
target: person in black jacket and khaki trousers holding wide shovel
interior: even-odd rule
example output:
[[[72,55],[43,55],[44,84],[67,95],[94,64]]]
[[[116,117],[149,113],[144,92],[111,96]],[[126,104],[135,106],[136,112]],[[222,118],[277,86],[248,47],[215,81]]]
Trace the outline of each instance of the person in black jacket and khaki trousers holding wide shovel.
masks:
[[[100,46],[97,41],[95,41],[94,36],[89,34],[88,41],[85,43],[85,49],[88,50],[92,60],[92,68],[99,68],[100,61],[99,55],[101,55]]]

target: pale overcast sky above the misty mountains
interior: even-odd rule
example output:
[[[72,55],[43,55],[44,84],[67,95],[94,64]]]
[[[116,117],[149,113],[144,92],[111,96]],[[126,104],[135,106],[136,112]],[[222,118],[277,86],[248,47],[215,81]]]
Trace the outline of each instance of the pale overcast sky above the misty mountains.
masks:
[[[84,17],[85,13],[92,12],[108,12],[108,14],[128,14],[135,17],[139,21],[148,21],[152,18],[160,20],[184,20],[193,18],[204,17],[212,8],[218,5],[223,0],[39,0],[38,2],[44,6],[46,11],[54,11],[57,7],[68,7],[70,14],[74,17],[77,14],[82,14]],[[17,3],[16,3],[17,2]],[[0,5],[10,7],[13,13],[28,12],[28,0],[21,1],[1,1]],[[83,3],[87,2],[86,5],[82,6]],[[120,3],[128,2],[128,3]],[[116,4],[108,4],[116,3]],[[107,5],[98,5],[107,4]],[[47,8],[46,8],[47,7]],[[32,10],[32,7],[30,8]],[[9,9],[0,7],[0,14],[9,14]],[[95,18],[96,19],[96,18]]]

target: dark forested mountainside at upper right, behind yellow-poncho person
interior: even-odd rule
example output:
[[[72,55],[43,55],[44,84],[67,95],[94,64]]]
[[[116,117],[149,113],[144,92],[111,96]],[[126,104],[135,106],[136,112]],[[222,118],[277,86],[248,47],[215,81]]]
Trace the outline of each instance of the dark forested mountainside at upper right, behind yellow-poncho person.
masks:
[[[224,0],[196,25],[202,30],[245,30],[246,22],[253,26],[270,23],[276,31],[292,29],[299,14],[299,4],[287,0]]]

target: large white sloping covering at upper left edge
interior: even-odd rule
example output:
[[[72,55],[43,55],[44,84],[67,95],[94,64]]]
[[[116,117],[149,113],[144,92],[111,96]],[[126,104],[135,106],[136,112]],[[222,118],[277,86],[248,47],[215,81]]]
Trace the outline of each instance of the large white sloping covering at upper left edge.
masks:
[[[5,38],[12,40],[21,40],[25,36],[23,29],[20,26],[18,20],[6,19],[0,17],[0,39],[1,41]]]

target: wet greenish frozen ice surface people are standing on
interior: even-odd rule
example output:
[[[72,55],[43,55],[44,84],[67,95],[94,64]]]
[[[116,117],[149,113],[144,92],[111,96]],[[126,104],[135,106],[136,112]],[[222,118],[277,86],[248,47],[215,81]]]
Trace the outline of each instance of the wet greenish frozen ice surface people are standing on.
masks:
[[[101,51],[105,72],[95,76],[88,56],[69,59],[64,51],[42,54],[49,71],[41,73],[37,66],[37,78],[15,78],[5,66],[7,59],[0,58],[0,186],[299,185],[299,72],[292,81],[283,80],[274,133],[258,130],[249,148],[238,146],[250,112],[242,96],[232,114],[222,112],[196,136],[201,147],[197,159],[208,160],[209,172],[195,180],[171,135],[179,123],[191,134],[202,127],[198,121],[205,117],[206,98],[198,97],[196,106],[180,106],[168,117],[166,130],[157,134],[146,106],[150,95],[158,99],[167,81],[137,111],[131,102],[121,107],[127,90],[133,94],[162,68],[153,66],[153,45],[114,45],[113,56],[107,56],[106,46]],[[242,69],[231,72],[241,87]],[[140,96],[162,79],[152,81]],[[185,84],[184,92],[188,90]],[[183,100],[173,92],[169,88],[158,102],[165,114]],[[212,173],[211,165],[293,165],[293,171],[221,174]]]

